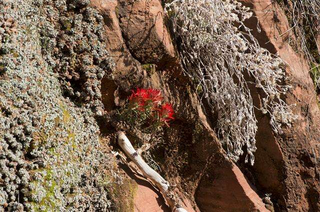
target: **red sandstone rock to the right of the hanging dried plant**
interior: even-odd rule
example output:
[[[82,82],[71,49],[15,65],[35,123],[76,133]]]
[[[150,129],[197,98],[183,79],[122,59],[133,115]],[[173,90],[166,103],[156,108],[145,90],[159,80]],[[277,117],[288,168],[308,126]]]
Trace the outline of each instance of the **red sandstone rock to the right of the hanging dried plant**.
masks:
[[[247,25],[253,29],[260,45],[277,53],[288,64],[286,72],[293,90],[285,101],[296,104],[293,113],[298,116],[293,126],[286,128],[281,136],[273,135],[267,117],[258,120],[257,151],[251,170],[256,175],[256,185],[261,191],[272,193],[271,198],[278,209],[319,211],[320,188],[315,158],[319,158],[316,143],[320,138],[320,113],[308,63],[287,44],[290,26],[277,4],[271,0],[241,1],[252,8],[259,19],[261,33],[256,31],[254,17],[247,21]],[[259,98],[258,92],[253,93]]]

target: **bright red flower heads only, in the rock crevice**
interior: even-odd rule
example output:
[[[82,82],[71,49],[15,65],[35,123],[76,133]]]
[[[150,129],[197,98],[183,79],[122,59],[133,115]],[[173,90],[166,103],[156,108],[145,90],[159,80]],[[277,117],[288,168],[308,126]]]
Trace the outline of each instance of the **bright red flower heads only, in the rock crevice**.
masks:
[[[149,112],[152,119],[168,125],[168,122],[174,119],[174,111],[170,103],[160,105],[162,99],[162,94],[157,89],[137,88],[136,91],[132,90],[132,94],[128,97],[129,108],[137,109],[139,112]]]

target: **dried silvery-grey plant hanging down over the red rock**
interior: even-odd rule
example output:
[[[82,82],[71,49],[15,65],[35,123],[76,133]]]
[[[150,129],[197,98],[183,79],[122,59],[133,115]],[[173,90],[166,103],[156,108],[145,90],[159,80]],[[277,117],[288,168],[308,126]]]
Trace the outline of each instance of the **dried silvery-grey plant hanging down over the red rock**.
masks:
[[[165,6],[179,43],[184,73],[201,86],[199,98],[217,114],[218,136],[228,158],[254,162],[257,131],[249,84],[264,93],[260,109],[276,133],[295,116],[281,99],[289,89],[283,61],[261,48],[243,23],[248,7],[230,0],[174,0]],[[241,30],[239,30],[241,28]]]

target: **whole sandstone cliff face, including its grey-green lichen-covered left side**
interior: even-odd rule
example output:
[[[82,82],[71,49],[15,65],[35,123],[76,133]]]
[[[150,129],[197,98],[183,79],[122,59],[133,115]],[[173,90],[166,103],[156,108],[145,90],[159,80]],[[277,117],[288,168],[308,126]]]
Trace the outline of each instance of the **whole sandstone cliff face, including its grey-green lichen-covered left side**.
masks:
[[[158,191],[109,154],[110,145],[117,147],[105,117],[131,89],[152,87],[176,114],[164,130],[166,145],[151,154],[188,211],[319,211],[320,111],[307,62],[286,44],[281,8],[270,0],[242,2],[259,19],[261,32],[255,17],[247,25],[260,45],[288,63],[293,89],[284,99],[296,104],[298,116],[276,135],[256,111],[252,167],[225,159],[214,116],[182,73],[163,2],[0,0],[6,11],[0,14],[0,206],[169,211]],[[261,92],[250,89],[259,105]],[[120,178],[129,183],[119,186]],[[269,193],[272,203],[264,198]]]

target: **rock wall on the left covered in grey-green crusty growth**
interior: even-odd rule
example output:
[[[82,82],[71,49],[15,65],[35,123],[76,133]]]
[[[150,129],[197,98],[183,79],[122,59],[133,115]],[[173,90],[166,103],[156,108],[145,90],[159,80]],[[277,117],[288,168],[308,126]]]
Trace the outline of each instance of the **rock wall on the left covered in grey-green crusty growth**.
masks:
[[[94,119],[112,61],[87,3],[0,0],[0,211],[112,211]]]

